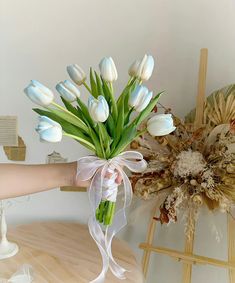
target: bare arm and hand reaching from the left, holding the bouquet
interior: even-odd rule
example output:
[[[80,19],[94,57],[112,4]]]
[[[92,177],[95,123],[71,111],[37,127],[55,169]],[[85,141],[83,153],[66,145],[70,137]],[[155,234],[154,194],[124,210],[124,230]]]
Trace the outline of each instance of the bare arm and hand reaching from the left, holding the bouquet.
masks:
[[[61,164],[0,164],[0,199],[42,192],[61,186],[88,187],[76,179],[77,162]],[[121,183],[121,177],[116,179]]]

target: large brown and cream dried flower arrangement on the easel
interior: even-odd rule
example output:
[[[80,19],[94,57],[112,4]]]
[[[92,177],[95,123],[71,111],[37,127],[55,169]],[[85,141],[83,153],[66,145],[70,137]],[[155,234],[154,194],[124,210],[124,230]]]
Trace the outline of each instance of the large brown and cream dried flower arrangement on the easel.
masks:
[[[235,85],[208,97],[205,125],[196,130],[194,113],[185,122],[173,115],[177,130],[170,135],[146,134],[131,144],[148,161],[144,173],[131,176],[134,194],[145,200],[164,194],[155,219],[176,222],[182,212],[189,237],[203,204],[228,213],[235,204]]]

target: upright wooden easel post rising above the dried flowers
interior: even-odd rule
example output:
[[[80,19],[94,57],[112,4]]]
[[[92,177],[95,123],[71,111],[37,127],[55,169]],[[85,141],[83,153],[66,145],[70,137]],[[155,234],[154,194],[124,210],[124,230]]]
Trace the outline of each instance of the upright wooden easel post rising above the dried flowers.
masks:
[[[194,127],[196,129],[203,125],[203,112],[206,92],[206,72],[207,72],[207,58],[208,50],[206,48],[201,49],[200,66],[198,75],[198,93],[196,102],[196,116],[194,121]]]

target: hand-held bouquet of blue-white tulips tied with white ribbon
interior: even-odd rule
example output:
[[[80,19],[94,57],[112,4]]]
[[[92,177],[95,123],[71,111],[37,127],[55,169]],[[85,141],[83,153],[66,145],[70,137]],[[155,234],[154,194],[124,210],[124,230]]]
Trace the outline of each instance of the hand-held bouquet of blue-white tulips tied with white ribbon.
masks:
[[[114,219],[118,192],[115,184],[117,174],[121,174],[128,195],[125,198],[125,209],[132,195],[129,180],[122,168],[126,166],[135,172],[146,168],[141,154],[123,152],[125,148],[148,129],[151,135],[166,135],[175,129],[171,116],[161,114],[149,119],[147,129],[138,130],[140,123],[149,117],[161,94],[153,97],[153,92],[142,85],[150,78],[153,68],[152,56],[145,55],[142,60],[135,61],[129,69],[129,80],[118,99],[115,98],[113,88],[113,82],[118,75],[111,57],[101,60],[100,74],[90,69],[89,84],[85,72],[78,65],[67,67],[73,82],[65,80],[56,85],[64,107],[55,103],[53,92],[38,81],[32,80],[25,89],[33,102],[45,108],[34,109],[41,115],[36,130],[42,140],[58,142],[65,135],[94,153],[78,162],[78,178],[91,180],[91,188],[95,190],[94,194],[90,193],[94,217],[96,222],[106,227],[112,225],[113,221],[122,221],[120,215]],[[80,98],[79,86],[84,86],[90,93],[87,104]],[[94,219],[92,225],[97,225],[94,224]],[[117,227],[119,224],[114,225]],[[99,242],[94,234],[96,242]]]

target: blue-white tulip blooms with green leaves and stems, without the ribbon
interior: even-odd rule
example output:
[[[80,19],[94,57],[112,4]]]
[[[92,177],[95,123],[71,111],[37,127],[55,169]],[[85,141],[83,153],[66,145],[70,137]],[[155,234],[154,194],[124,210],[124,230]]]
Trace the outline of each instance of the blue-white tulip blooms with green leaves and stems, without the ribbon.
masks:
[[[100,62],[100,74],[90,69],[90,85],[86,82],[85,72],[78,65],[68,66],[67,71],[73,82],[65,80],[56,85],[65,108],[54,102],[54,93],[50,89],[38,81],[31,81],[25,93],[33,102],[45,108],[34,109],[41,115],[36,128],[40,138],[58,142],[65,135],[99,158],[117,156],[147,130],[139,131],[138,126],[148,118],[161,94],[153,97],[153,93],[142,85],[143,81],[150,78],[153,67],[152,56],[145,55],[141,61],[135,61],[129,69],[127,85],[115,100],[113,82],[118,75],[111,57],[103,58]],[[88,104],[80,99],[80,85],[84,85],[90,93]],[[148,121],[148,130],[152,135],[167,134],[174,130],[171,117],[168,115],[165,119],[162,115],[155,115]],[[104,198],[96,211],[97,220],[110,225],[114,212],[115,201]]]

